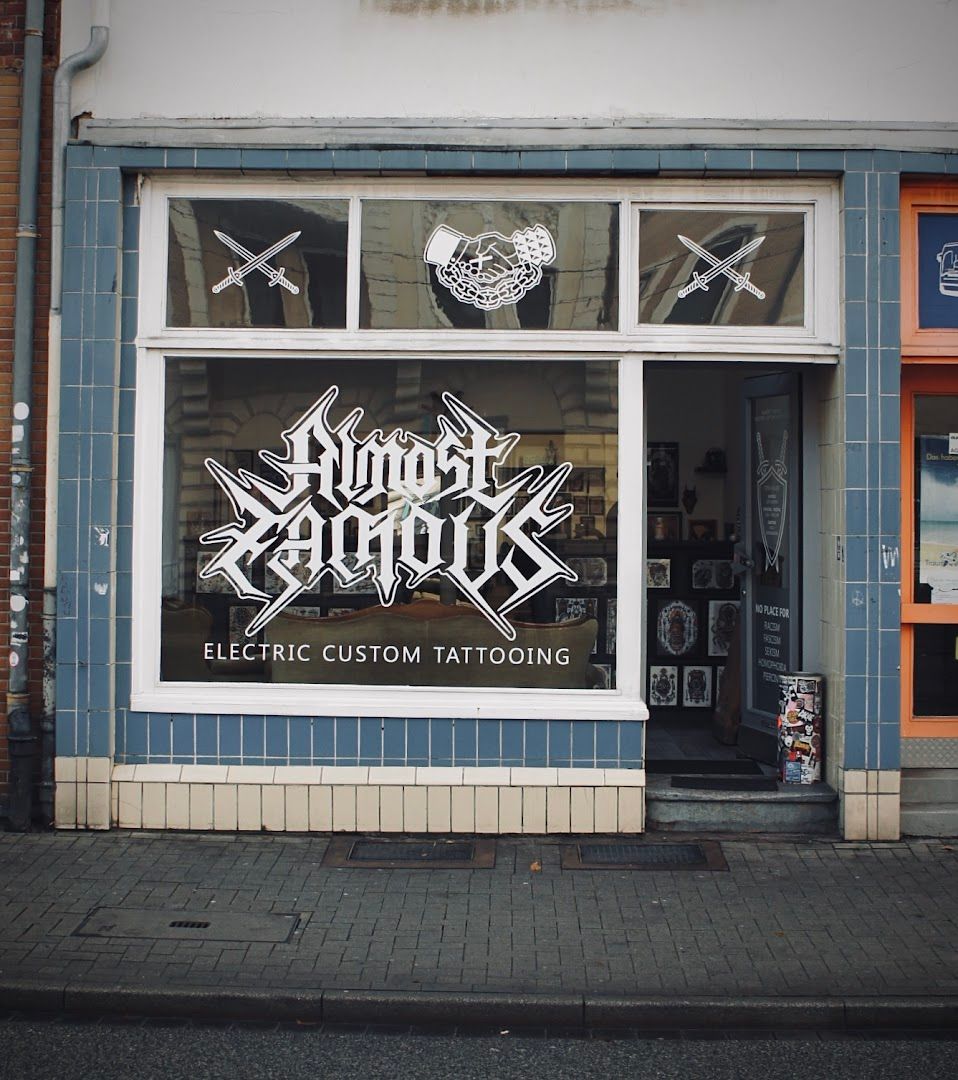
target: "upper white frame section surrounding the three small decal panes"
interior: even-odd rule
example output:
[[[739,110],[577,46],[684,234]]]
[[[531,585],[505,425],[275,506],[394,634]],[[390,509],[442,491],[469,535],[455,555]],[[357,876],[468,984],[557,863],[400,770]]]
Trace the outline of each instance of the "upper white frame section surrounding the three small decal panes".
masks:
[[[348,200],[347,319],[345,329],[167,327],[166,243],[170,199]],[[619,202],[619,329],[616,330],[382,330],[360,329],[360,215],[363,199],[456,202]],[[638,214],[645,210],[765,210],[806,213],[807,324],[778,326],[655,326],[638,323]],[[659,180],[595,184],[563,180],[222,180],[154,179],[143,189],[138,343],[208,343],[244,350],[284,342],[291,350],[376,352],[610,352],[709,354],[717,360],[770,356],[835,363],[840,346],[838,186],[831,180]]]

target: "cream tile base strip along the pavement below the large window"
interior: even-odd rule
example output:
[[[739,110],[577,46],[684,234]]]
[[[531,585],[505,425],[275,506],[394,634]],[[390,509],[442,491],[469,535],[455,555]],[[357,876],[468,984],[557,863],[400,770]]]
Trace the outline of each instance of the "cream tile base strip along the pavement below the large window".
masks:
[[[57,827],[109,828],[85,780],[81,814],[79,772],[67,767],[70,779],[60,781],[60,760],[81,759],[57,761]],[[109,811],[109,785],[99,786]],[[118,765],[111,820],[120,828],[255,833],[640,833],[645,770],[230,766],[220,775]]]

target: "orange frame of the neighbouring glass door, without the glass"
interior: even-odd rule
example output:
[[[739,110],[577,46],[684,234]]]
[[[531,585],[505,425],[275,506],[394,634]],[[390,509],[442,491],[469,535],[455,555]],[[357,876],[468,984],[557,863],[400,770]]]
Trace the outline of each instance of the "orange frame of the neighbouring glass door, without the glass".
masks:
[[[958,394],[958,361],[906,364],[902,368],[902,734],[958,738],[958,717],[914,716],[915,626],[958,625],[958,604],[915,603],[915,399]]]

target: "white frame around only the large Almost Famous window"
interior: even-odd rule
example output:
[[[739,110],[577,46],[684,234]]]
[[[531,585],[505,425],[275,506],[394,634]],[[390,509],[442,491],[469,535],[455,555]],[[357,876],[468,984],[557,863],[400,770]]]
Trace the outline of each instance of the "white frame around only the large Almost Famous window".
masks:
[[[249,713],[308,716],[451,716],[554,719],[644,719],[640,665],[622,664],[615,690],[541,690],[501,687],[362,686],[357,684],[198,683],[160,679],[162,530],[157,492],[163,487],[165,367],[167,359],[222,355],[221,349],[141,349],[137,357],[136,449],[133,503],[133,685],[136,711]],[[246,351],[237,363],[276,352]],[[355,354],[353,354],[355,355]],[[366,353],[365,355],[368,355]],[[390,353],[389,355],[394,355]],[[316,360],[349,359],[323,353]],[[448,357],[454,359],[454,357]],[[488,356],[457,355],[482,363]],[[516,353],[535,363],[541,353]],[[563,360],[619,360],[590,353]],[[619,411],[632,419],[619,429],[619,536],[642,534],[644,435],[642,364],[619,362]],[[159,407],[158,407],[159,406]],[[643,559],[620,561],[617,656],[638,656]],[[624,616],[624,617],[623,617]],[[401,691],[401,692],[399,692]],[[322,704],[318,707],[318,701]]]

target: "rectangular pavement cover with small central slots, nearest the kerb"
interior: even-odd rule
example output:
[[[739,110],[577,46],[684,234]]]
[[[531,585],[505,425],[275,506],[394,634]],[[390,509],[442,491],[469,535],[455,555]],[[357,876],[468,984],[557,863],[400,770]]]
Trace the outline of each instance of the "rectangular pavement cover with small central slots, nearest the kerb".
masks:
[[[96,907],[73,934],[78,937],[152,937],[166,941],[287,942],[297,926],[298,915]]]

